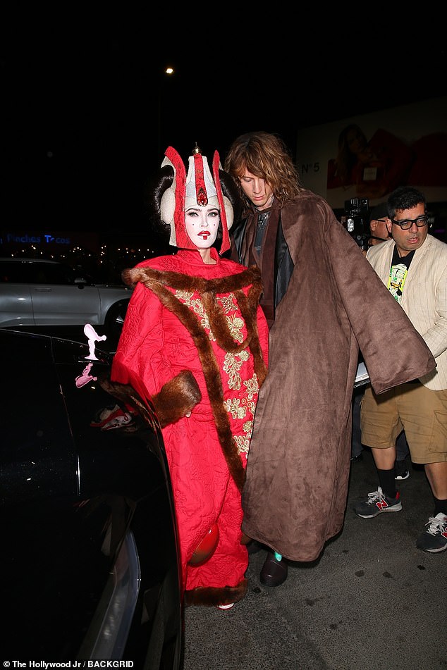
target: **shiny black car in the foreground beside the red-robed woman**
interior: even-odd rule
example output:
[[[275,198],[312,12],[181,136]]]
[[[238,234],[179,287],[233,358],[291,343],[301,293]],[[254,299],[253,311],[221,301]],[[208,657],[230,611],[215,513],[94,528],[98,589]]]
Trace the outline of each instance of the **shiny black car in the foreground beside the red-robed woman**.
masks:
[[[178,539],[152,403],[112,428],[110,354],[4,328],[0,345],[2,657],[177,670]]]

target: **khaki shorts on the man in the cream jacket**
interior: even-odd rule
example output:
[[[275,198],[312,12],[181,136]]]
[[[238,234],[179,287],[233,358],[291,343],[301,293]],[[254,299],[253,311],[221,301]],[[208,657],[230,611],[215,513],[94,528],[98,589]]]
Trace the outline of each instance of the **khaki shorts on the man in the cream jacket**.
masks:
[[[360,404],[362,444],[376,449],[396,445],[405,430],[413,463],[447,461],[447,389],[400,384],[376,395],[370,386]]]

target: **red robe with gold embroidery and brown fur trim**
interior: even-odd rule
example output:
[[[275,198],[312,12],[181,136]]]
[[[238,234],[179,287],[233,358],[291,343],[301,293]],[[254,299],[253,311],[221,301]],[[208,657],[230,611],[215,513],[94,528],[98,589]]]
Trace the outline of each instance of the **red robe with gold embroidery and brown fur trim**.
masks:
[[[212,257],[216,264],[206,265],[199,252],[180,250],[123,273],[135,290],[111,375],[123,384],[142,380],[163,414],[181,405],[176,394],[184,371],[200,390],[190,416],[161,421],[187,604],[226,604],[246,593],[241,491],[267,370],[259,271],[221,259],[214,249]],[[204,564],[190,565],[214,524],[216,550]]]

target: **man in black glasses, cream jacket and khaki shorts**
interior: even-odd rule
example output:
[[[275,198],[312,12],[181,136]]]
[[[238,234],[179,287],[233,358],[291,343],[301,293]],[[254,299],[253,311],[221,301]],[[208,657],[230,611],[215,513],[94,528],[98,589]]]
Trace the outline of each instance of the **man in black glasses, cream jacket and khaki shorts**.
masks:
[[[416,544],[442,552],[447,549],[447,244],[428,234],[427,203],[417,189],[398,187],[388,197],[387,213],[393,239],[371,247],[367,259],[424,338],[436,369],[380,397],[365,391],[362,443],[372,447],[379,488],[357,503],[355,512],[370,519],[402,509],[394,445],[405,430],[412,462],[424,464],[434,496],[434,514]],[[398,330],[389,337],[398,338]]]

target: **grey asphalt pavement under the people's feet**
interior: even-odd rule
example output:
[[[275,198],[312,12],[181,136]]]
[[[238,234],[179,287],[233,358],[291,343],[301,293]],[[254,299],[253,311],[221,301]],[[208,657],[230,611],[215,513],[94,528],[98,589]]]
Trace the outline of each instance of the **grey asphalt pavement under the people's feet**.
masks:
[[[402,511],[353,511],[377,489],[365,449],[351,466],[343,531],[317,562],[290,563],[286,582],[269,588],[259,583],[263,550],[233,609],[188,607],[183,670],[446,670],[447,550],[416,548],[433,499],[422,466],[408,464]]]

